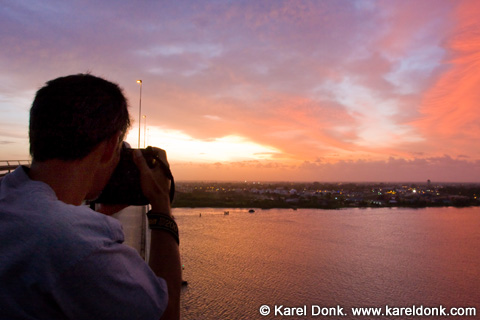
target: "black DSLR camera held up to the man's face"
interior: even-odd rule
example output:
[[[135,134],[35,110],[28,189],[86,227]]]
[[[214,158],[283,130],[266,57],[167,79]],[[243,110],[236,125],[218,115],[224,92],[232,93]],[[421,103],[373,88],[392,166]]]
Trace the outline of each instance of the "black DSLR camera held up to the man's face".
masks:
[[[95,203],[136,206],[150,203],[143,194],[140,185],[140,171],[135,162],[133,162],[133,150],[128,147],[127,143],[123,143],[120,161],[102,193],[94,201]],[[158,157],[154,148],[149,146],[146,149],[140,149],[140,151],[151,169],[160,166],[165,176],[170,179],[170,202],[173,202],[175,182],[170,168]]]

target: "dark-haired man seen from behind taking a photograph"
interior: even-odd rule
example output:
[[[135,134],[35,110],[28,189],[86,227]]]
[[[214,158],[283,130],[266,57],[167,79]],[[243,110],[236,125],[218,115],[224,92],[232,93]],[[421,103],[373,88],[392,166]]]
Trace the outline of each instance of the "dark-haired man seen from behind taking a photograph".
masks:
[[[0,181],[0,319],[179,318],[175,236],[152,228],[147,265],[117,220],[82,205],[109,180],[129,125],[121,89],[104,79],[72,75],[37,92],[32,165]],[[140,152],[134,161],[154,217],[172,222],[168,179]]]

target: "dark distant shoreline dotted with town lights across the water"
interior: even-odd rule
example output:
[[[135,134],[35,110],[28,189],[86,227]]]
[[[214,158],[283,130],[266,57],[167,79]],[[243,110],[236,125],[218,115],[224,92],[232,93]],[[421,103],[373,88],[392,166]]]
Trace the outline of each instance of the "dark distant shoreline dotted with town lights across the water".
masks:
[[[178,183],[173,207],[341,209],[480,206],[480,185]]]

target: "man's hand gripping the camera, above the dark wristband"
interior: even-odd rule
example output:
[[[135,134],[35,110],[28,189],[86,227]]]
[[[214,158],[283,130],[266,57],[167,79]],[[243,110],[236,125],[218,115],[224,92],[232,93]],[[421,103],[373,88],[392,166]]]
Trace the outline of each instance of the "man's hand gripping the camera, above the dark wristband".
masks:
[[[167,166],[165,150],[153,148],[158,158]],[[150,200],[152,211],[170,215],[170,180],[165,176],[159,165],[150,169],[140,150],[134,150],[133,161],[140,171],[140,183],[145,197]]]

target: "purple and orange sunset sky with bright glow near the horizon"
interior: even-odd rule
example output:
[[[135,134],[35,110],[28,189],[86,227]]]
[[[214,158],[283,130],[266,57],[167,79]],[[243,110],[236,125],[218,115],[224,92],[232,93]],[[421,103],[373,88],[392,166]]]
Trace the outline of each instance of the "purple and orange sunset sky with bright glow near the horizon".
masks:
[[[29,159],[36,90],[90,72],[177,180],[480,182],[479,16],[477,0],[2,1],[0,160]]]

